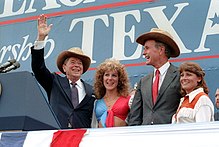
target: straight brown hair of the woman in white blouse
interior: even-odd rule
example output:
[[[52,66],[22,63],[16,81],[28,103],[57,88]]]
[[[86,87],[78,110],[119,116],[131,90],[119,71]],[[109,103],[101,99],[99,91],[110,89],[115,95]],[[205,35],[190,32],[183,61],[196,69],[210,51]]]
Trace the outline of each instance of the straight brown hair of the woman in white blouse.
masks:
[[[195,63],[195,62],[184,62],[180,65],[179,67],[179,72],[180,74],[183,72],[183,71],[188,71],[188,72],[191,72],[191,73],[194,73],[196,74],[198,77],[201,78],[201,81],[198,82],[198,85],[195,87],[195,89],[198,89],[200,87],[202,87],[204,89],[204,92],[206,94],[209,93],[209,90],[208,90],[208,87],[207,87],[207,84],[204,80],[204,76],[205,76],[205,72],[202,70],[202,68],[200,67],[199,64]],[[181,88],[181,94],[182,96],[185,96],[186,95],[186,92],[185,90],[183,90]]]

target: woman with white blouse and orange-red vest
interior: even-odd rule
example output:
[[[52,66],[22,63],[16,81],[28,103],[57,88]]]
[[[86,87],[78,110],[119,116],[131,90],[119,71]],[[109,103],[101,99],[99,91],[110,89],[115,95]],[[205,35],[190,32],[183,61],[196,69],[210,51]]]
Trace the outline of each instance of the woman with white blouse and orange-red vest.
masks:
[[[205,73],[194,62],[180,65],[181,98],[172,123],[192,123],[214,121],[214,105],[208,96]]]

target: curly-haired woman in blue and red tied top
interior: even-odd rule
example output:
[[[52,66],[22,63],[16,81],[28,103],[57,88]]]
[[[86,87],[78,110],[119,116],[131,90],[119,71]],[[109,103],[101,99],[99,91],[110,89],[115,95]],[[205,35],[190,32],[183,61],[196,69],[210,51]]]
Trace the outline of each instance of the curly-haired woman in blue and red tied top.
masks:
[[[99,65],[95,74],[94,105],[92,127],[126,126],[129,113],[128,74],[118,60],[107,59]]]

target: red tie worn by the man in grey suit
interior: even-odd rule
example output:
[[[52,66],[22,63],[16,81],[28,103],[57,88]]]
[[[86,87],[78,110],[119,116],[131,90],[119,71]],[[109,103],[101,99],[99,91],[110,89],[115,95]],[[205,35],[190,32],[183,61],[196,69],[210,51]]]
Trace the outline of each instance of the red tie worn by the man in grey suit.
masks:
[[[160,79],[160,71],[157,69],[155,72],[155,81],[153,83],[153,88],[152,88],[152,98],[153,98],[153,103],[155,104],[157,95],[158,95],[158,87],[159,87],[159,79]]]

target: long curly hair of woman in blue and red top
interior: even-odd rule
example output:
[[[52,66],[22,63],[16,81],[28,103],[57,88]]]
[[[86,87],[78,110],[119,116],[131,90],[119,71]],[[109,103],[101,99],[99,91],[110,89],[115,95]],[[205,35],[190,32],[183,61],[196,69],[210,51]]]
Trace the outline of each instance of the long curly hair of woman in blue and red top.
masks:
[[[116,70],[118,72],[117,91],[120,96],[128,96],[130,90],[130,83],[128,73],[125,66],[116,59],[106,59],[101,63],[96,70],[94,79],[94,92],[97,99],[103,98],[106,93],[106,88],[103,85],[103,75],[106,71]]]

